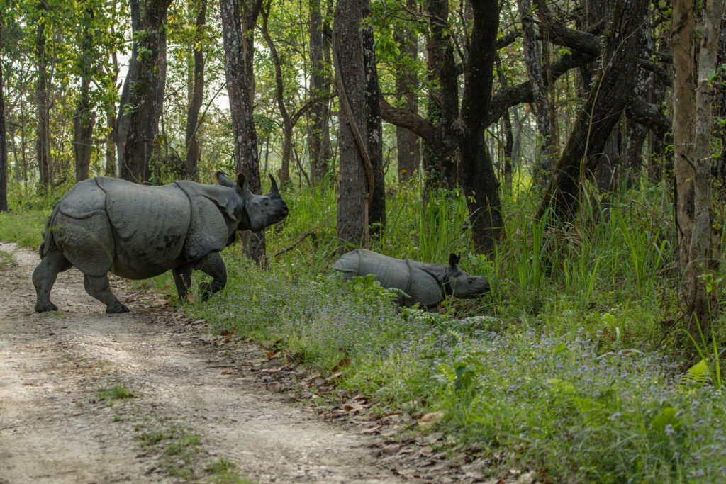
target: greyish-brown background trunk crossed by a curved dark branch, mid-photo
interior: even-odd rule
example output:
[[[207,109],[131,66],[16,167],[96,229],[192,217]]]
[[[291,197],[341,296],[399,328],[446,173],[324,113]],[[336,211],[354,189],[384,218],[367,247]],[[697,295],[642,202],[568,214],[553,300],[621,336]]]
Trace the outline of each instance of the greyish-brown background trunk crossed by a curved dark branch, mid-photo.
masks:
[[[409,12],[416,11],[415,0],[407,0],[406,5]],[[411,19],[411,23],[407,23],[405,27],[399,23],[398,28],[393,33],[393,38],[399,44],[399,50],[403,57],[401,70],[396,75],[396,93],[399,98],[404,100],[405,109],[418,112],[416,95],[418,79],[415,70],[410,67],[412,60],[415,60],[418,55],[418,41],[414,25],[412,25],[414,20]],[[415,173],[419,171],[421,155],[418,147],[418,136],[407,128],[396,126],[396,152],[399,183],[404,183],[412,179]]]

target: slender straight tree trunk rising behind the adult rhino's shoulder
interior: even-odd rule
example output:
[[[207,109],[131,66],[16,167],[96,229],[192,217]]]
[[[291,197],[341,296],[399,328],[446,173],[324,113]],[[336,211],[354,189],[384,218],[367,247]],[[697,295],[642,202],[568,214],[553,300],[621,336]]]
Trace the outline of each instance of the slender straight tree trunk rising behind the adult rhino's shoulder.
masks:
[[[196,15],[194,11],[196,10]],[[187,151],[187,162],[185,178],[189,180],[199,179],[199,160],[201,149],[199,144],[199,112],[202,108],[204,98],[204,52],[202,50],[202,39],[204,25],[207,19],[207,0],[189,2],[189,13],[195,17],[195,43],[192,47],[194,52],[194,67],[192,68],[192,88],[189,91],[189,110],[187,111],[187,132],[184,137]]]

